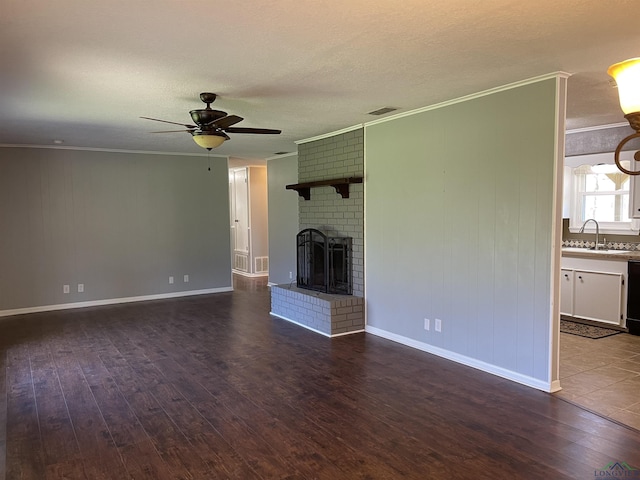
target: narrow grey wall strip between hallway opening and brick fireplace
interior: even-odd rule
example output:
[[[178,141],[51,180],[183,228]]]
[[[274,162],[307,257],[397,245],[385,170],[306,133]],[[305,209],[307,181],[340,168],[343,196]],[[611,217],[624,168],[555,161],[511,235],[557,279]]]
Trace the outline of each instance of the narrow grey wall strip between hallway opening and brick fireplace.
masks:
[[[298,194],[286,190],[298,183],[298,156],[267,160],[269,192],[269,283],[295,281]],[[291,273],[291,275],[290,275]],[[293,278],[292,278],[293,277]]]

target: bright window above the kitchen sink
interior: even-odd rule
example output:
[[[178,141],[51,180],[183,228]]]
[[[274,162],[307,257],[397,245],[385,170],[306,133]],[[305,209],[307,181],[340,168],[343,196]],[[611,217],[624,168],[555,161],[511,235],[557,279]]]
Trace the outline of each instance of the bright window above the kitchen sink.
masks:
[[[602,160],[602,155],[589,155],[582,158],[573,157],[573,166],[565,167],[565,175],[569,174],[570,188],[569,230],[578,232],[584,222],[594,218],[600,225],[600,232],[610,234],[638,233],[638,222],[629,217],[629,189],[631,179],[612,163],[613,155]],[[580,163],[580,161],[585,163]],[[598,162],[598,163],[596,163]],[[628,160],[622,161],[625,168],[630,168]],[[566,180],[566,179],[565,179]],[[565,199],[567,197],[565,196]],[[589,223],[587,232],[594,232],[595,226]]]

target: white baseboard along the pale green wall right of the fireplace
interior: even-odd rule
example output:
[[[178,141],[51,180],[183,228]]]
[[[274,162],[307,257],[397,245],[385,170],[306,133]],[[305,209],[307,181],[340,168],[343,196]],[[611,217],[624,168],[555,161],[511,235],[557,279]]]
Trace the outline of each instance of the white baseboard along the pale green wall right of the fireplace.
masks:
[[[367,325],[365,327],[365,331],[372,335],[386,338],[387,340],[392,340],[408,347],[422,350],[423,352],[431,353],[433,355],[437,355],[438,357],[446,358],[447,360],[452,360],[454,362],[461,363],[462,365],[482,370],[483,372],[491,373],[498,377],[506,378],[507,380],[526,385],[527,387],[532,387],[547,393],[552,393],[554,391],[552,389],[552,384],[550,384],[549,382],[542,381],[538,378],[529,377],[528,375],[523,375],[512,370],[507,370],[506,368],[498,367],[491,363],[486,363],[475,358],[460,355],[459,353],[435,347],[433,345],[429,345],[428,343],[419,342],[417,340],[413,340],[412,338],[391,333],[380,328],[372,327],[370,325]]]

